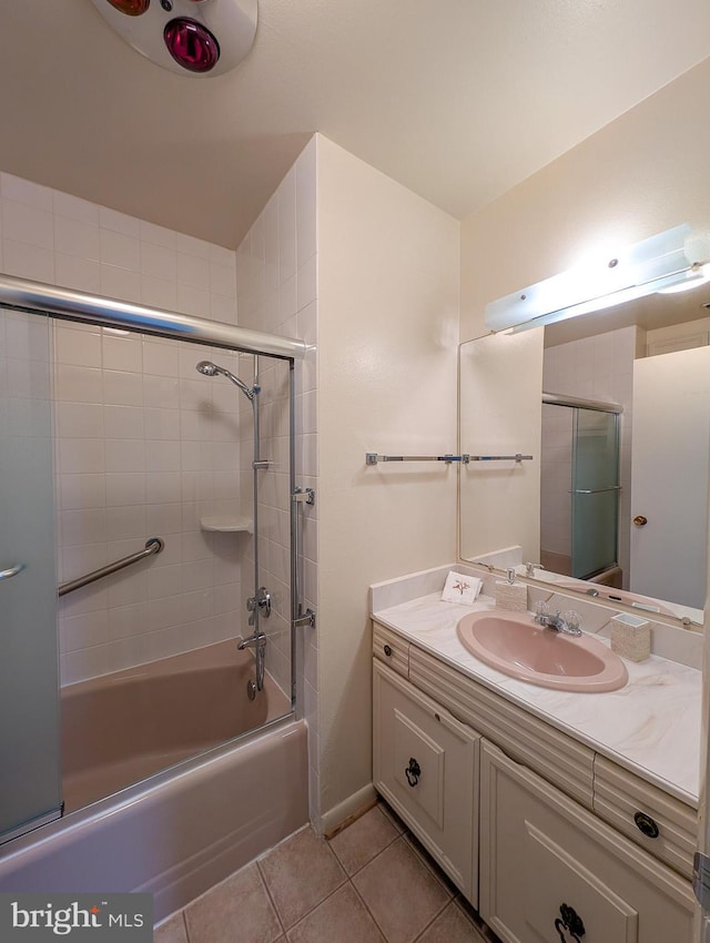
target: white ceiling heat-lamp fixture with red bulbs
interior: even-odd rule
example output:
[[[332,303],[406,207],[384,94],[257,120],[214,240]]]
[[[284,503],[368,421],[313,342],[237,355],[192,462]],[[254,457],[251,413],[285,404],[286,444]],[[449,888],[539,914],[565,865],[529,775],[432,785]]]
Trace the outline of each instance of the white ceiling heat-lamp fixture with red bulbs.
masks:
[[[151,62],[181,75],[221,75],[251,50],[257,0],[92,0]]]

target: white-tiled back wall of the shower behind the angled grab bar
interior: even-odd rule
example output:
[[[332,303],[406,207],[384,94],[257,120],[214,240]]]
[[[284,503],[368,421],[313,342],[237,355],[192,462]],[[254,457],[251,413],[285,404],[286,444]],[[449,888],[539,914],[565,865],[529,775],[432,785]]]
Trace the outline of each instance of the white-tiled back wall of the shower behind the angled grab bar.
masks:
[[[221,246],[4,173],[0,236],[9,275],[236,323],[235,254]],[[213,355],[235,369],[236,355],[61,322],[53,344],[60,580],[165,539],[62,601],[62,682],[240,633],[244,536],[200,518],[240,510],[243,397],[194,369]],[[30,377],[42,373],[38,361]]]

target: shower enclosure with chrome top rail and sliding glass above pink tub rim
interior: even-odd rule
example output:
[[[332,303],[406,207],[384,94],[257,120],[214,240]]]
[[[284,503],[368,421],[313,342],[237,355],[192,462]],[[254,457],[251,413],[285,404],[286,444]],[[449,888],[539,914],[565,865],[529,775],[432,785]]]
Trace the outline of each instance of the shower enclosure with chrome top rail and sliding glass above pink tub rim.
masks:
[[[0,844],[293,712],[304,353],[0,278]]]

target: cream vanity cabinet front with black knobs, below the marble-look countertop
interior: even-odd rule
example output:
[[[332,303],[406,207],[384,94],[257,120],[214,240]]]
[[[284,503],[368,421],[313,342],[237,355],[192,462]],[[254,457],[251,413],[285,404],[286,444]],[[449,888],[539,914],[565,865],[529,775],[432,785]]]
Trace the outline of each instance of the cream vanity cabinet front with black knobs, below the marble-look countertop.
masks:
[[[375,788],[505,943],[690,943],[693,810],[377,623],[373,653]]]

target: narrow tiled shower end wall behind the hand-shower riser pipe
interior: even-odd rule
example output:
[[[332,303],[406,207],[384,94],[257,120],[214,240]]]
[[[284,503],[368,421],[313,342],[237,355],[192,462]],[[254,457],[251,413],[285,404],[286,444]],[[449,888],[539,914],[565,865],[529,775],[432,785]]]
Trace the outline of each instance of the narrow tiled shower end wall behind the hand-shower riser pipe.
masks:
[[[314,488],[314,506],[301,505],[302,580],[300,598],[304,608],[317,612],[317,243],[316,243],[316,139],[313,138],[268,201],[236,251],[236,283],[240,325],[298,337],[312,349],[295,367],[296,400],[296,485]],[[245,367],[246,369],[246,367]],[[264,474],[265,487],[260,499],[260,559],[262,582],[275,587],[275,617],[263,620],[262,628],[273,645],[267,649],[267,667],[282,687],[287,683],[290,665],[288,598],[288,494],[283,478],[285,465],[286,371],[283,364],[268,365],[261,358],[263,384],[262,455],[276,457],[273,469]],[[240,423],[240,428],[245,428]],[[243,434],[242,434],[243,435]],[[247,447],[242,437],[242,494],[251,487],[247,479]],[[271,483],[268,483],[271,476]],[[246,571],[246,570],[245,570]],[[248,586],[244,581],[242,595]],[[303,686],[300,703],[308,721],[311,758],[311,810],[317,813],[317,632],[303,628],[296,637],[296,678]],[[284,688],[287,690],[287,687]]]

